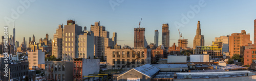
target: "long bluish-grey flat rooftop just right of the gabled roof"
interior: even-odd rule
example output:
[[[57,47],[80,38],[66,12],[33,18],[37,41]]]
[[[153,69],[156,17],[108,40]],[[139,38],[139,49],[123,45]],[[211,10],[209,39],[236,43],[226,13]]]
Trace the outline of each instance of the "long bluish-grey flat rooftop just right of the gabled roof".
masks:
[[[157,68],[188,68],[187,64],[151,64]]]

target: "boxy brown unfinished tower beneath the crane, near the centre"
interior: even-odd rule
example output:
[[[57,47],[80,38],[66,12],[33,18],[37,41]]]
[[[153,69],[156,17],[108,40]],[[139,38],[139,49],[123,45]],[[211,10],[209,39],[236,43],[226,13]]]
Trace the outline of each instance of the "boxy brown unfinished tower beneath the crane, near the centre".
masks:
[[[134,28],[134,48],[141,49],[146,46],[145,28]]]

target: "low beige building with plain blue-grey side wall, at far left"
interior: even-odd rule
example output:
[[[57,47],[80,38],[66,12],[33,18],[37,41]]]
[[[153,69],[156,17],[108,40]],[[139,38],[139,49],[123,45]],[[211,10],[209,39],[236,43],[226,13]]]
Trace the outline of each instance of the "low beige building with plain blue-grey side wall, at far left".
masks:
[[[45,52],[35,50],[28,52],[29,69],[38,68],[38,64],[45,64]]]

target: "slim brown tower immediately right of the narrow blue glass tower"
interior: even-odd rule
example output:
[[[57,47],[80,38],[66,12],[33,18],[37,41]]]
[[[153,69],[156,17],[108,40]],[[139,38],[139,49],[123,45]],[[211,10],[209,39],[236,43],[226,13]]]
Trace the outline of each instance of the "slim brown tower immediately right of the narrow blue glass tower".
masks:
[[[165,48],[169,48],[170,45],[170,31],[169,31],[169,24],[163,24],[162,26],[162,45]]]

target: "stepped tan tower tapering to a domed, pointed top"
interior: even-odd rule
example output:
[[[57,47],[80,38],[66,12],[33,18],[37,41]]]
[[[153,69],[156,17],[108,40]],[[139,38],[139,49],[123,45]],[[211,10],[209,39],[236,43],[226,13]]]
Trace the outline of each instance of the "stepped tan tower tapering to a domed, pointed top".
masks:
[[[201,35],[200,21],[197,23],[197,34],[194,38],[193,49],[197,46],[204,46],[204,35]]]

